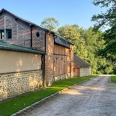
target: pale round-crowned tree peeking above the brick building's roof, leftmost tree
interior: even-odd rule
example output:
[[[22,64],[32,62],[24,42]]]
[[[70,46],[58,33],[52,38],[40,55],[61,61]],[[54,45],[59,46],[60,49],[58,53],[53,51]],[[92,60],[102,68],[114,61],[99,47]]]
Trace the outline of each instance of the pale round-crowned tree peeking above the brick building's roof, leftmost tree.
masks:
[[[56,31],[56,28],[58,27],[58,25],[59,25],[58,20],[56,20],[55,18],[52,18],[52,17],[45,18],[40,24],[41,27],[46,28],[53,32]]]

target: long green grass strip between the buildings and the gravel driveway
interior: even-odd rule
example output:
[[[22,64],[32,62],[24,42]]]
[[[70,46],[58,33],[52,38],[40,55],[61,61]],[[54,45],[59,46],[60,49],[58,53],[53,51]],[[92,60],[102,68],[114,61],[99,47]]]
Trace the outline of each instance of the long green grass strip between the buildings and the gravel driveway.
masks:
[[[10,116],[11,114],[37,102],[41,99],[50,96],[58,91],[61,91],[68,86],[73,84],[79,83],[81,81],[87,80],[89,78],[96,77],[94,76],[87,76],[87,77],[75,77],[66,80],[60,80],[53,84],[53,86],[49,88],[44,88],[35,92],[30,92],[25,95],[21,95],[17,98],[13,98],[12,100],[3,102],[0,104],[0,116]]]

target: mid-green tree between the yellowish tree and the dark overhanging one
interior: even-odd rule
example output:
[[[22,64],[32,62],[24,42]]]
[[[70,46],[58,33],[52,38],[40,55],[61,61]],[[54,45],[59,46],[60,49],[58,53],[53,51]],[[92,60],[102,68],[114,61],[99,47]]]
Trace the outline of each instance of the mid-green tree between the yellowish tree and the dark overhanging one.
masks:
[[[82,30],[82,29],[81,29]],[[98,56],[98,51],[104,48],[104,40],[102,39],[102,32],[94,32],[93,28],[90,27],[88,29],[83,29],[83,31],[80,30],[81,36],[85,40],[85,47],[87,50],[87,57],[84,58],[87,62],[90,62],[92,65],[92,72],[94,74],[96,73],[104,73],[101,67],[102,63],[99,62],[102,61],[102,59]],[[104,61],[106,64],[106,62]]]

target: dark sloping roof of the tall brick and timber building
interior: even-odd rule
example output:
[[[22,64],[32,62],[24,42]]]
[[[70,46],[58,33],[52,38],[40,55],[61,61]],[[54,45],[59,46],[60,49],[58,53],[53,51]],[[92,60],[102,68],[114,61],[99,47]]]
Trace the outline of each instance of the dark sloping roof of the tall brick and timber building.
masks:
[[[36,27],[36,28],[39,28],[39,29],[41,29],[41,30],[43,30],[43,31],[45,31],[45,32],[50,32],[50,33],[52,33],[52,34],[55,36],[54,41],[55,41],[56,44],[59,44],[59,45],[62,45],[62,46],[68,47],[68,48],[70,47],[70,44],[72,44],[72,43],[70,43],[69,41],[67,41],[67,40],[65,40],[64,38],[62,38],[61,36],[56,35],[54,32],[52,32],[52,31],[50,31],[50,30],[48,30],[48,29],[42,28],[42,27],[38,26],[37,24],[32,23],[32,22],[30,22],[30,21],[27,21],[27,20],[25,20],[25,19],[23,19],[23,18],[20,18],[20,17],[14,15],[13,13],[7,11],[6,9],[0,10],[0,15],[3,14],[3,13],[8,13],[8,14],[10,14],[11,16],[13,16],[13,17],[15,18],[15,20],[22,21],[23,23],[25,23],[25,24],[26,24],[27,26],[29,26],[29,27]],[[72,45],[73,45],[73,44],[72,44]]]

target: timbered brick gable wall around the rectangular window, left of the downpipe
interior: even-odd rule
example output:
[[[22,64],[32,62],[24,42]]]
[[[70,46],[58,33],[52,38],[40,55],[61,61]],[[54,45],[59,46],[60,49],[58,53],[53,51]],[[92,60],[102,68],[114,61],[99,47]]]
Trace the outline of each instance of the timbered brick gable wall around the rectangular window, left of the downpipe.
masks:
[[[10,15],[0,16],[0,28],[1,29],[12,29],[12,39],[4,39],[11,44],[16,44],[20,46],[30,47],[30,28],[25,26],[19,21],[16,21]],[[26,40],[26,42],[25,42]],[[27,42],[28,41],[28,42]]]

